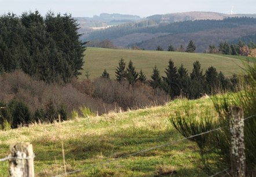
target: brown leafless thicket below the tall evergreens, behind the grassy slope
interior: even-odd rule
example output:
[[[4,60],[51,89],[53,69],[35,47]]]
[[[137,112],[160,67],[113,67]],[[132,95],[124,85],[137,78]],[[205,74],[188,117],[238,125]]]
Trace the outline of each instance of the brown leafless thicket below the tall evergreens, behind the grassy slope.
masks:
[[[46,84],[35,80],[22,71],[0,75],[0,101],[8,104],[12,99],[23,101],[30,111],[46,109],[49,102],[59,109],[65,105],[68,115],[72,110],[86,106],[103,114],[111,110],[134,109],[144,106],[163,104],[165,94],[154,94],[153,90],[142,83],[132,87],[128,83],[115,80],[96,79],[72,80],[65,86]]]

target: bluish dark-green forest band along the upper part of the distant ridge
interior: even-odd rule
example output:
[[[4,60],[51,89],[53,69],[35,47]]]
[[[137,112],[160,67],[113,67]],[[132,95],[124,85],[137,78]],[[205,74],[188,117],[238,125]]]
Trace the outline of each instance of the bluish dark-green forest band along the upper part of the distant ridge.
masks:
[[[147,32],[155,34],[158,32],[178,34],[187,32],[203,31],[213,28],[235,28],[240,25],[254,25],[256,19],[252,17],[233,17],[224,20],[195,20],[195,21],[182,21],[170,24],[158,24],[154,20],[141,21],[139,23],[129,23],[119,25],[107,29],[92,32],[89,40],[104,40],[115,39],[133,33]]]

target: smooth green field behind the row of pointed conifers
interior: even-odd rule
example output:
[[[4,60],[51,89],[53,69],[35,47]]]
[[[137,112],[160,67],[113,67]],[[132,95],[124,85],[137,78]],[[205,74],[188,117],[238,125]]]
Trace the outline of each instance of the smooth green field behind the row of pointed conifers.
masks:
[[[152,75],[153,67],[159,69],[160,74],[164,76],[164,70],[167,68],[168,61],[174,61],[175,66],[184,64],[189,72],[192,71],[193,62],[200,61],[203,71],[213,66],[217,71],[222,71],[224,75],[242,72],[242,63],[240,59],[245,57],[224,56],[217,54],[204,53],[185,53],[177,51],[152,51],[152,50],[126,50],[126,49],[101,49],[87,47],[85,51],[85,64],[81,78],[85,78],[85,73],[89,73],[89,78],[94,79],[101,76],[104,69],[115,79],[115,69],[118,66],[120,58],[124,58],[126,63],[133,61],[137,71],[142,71],[149,79]]]

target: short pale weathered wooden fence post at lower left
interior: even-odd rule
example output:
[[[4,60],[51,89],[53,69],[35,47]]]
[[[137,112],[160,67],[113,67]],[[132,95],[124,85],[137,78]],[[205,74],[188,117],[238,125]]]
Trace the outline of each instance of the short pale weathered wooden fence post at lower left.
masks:
[[[10,146],[9,174],[11,177],[34,177],[34,153],[30,143]]]

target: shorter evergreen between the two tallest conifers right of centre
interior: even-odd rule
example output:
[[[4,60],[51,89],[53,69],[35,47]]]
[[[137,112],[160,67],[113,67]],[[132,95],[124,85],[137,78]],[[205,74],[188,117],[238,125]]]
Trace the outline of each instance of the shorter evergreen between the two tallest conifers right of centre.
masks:
[[[183,64],[178,68],[178,82],[179,82],[179,91],[180,94],[184,94],[188,96],[189,94],[189,85],[190,85],[190,78],[188,75],[188,70],[184,67]]]

